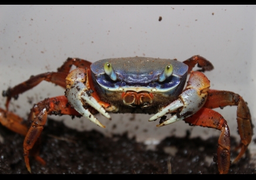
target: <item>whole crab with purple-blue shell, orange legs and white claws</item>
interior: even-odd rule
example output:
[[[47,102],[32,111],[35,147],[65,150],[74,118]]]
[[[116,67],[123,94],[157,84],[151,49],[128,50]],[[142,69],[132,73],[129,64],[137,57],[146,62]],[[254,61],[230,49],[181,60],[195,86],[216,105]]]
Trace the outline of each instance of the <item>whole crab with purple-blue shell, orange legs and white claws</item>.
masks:
[[[196,64],[200,70],[192,71]],[[72,65],[77,68],[70,71]],[[96,113],[109,120],[110,112],[153,114],[149,121],[160,119],[159,127],[184,120],[191,126],[221,131],[217,166],[220,174],[227,174],[231,164],[230,130],[224,117],[213,109],[237,106],[241,150],[233,162],[240,160],[251,142],[251,115],[240,95],[210,89],[210,81],[203,74],[203,71],[210,70],[213,70],[213,65],[201,56],[193,56],[183,63],[176,59],[146,57],[109,58],[95,63],[68,58],[57,72],[32,76],[3,91],[2,95],[7,99],[6,109],[0,109],[0,123],[25,136],[24,158],[26,168],[31,172],[29,155],[45,164],[36,144],[48,115],[84,116],[100,127],[105,126],[97,120]],[[66,88],[65,95],[46,98],[34,105],[28,117],[31,125],[27,127],[21,117],[8,110],[9,102],[42,81]]]

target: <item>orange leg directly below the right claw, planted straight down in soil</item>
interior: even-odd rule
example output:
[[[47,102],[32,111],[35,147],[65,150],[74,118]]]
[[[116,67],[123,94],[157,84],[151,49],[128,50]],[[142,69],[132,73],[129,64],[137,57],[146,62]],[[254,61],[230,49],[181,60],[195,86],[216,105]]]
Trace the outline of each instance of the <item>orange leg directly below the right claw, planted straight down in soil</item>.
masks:
[[[223,116],[212,109],[201,108],[197,113],[184,120],[194,126],[221,130],[220,138],[218,139],[217,164],[220,174],[227,174],[230,168],[230,130]]]

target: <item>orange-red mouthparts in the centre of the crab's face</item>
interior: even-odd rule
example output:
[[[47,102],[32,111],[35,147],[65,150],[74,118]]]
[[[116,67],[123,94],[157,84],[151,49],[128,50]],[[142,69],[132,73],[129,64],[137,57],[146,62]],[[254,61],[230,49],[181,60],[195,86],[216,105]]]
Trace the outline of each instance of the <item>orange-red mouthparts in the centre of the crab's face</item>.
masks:
[[[126,106],[141,106],[146,108],[152,105],[153,103],[153,94],[147,91],[126,91],[122,93],[123,103]]]

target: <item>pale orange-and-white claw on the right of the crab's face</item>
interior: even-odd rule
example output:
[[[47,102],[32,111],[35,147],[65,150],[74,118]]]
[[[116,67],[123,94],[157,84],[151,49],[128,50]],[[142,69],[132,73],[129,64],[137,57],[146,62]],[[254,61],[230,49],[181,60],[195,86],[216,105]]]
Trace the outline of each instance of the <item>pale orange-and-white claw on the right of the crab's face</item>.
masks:
[[[210,81],[206,75],[202,72],[191,71],[186,89],[178,99],[162,108],[156,115],[152,116],[149,121],[156,120],[166,114],[175,113],[170,119],[164,120],[157,125],[164,126],[193,115],[201,109],[206,102],[209,88]]]

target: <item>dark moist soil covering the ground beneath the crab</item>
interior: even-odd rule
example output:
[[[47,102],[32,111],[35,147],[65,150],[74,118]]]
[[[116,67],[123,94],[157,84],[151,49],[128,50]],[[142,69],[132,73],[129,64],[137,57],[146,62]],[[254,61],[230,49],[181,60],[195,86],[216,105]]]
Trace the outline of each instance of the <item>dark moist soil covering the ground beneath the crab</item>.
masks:
[[[4,137],[4,144],[0,144],[0,174],[28,174],[23,161],[24,137],[1,125],[0,133]],[[168,174],[169,159],[172,174],[218,174],[215,162],[209,165],[205,161],[206,156],[213,157],[216,153],[217,141],[218,137],[208,140],[167,137],[156,151],[151,151],[127,134],[109,138],[97,131],[78,132],[49,120],[43,130],[41,148],[41,157],[47,164],[43,166],[31,157],[31,169],[32,174]],[[167,146],[177,147],[175,156],[170,158],[164,153]],[[232,158],[235,155],[231,154]],[[238,164],[231,165],[229,173],[255,174],[255,165],[249,162],[247,151]]]

